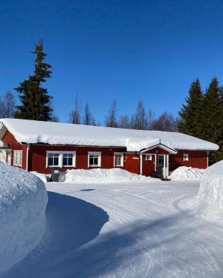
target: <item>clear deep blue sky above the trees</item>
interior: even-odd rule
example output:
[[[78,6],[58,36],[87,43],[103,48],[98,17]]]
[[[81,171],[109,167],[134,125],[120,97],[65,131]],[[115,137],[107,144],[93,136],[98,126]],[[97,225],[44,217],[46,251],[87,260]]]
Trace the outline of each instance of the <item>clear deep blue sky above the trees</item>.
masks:
[[[132,113],[139,99],[177,115],[193,79],[223,83],[222,1],[0,1],[0,95],[33,71],[43,38],[54,67],[45,86],[61,122],[75,95],[101,123],[113,99]]]

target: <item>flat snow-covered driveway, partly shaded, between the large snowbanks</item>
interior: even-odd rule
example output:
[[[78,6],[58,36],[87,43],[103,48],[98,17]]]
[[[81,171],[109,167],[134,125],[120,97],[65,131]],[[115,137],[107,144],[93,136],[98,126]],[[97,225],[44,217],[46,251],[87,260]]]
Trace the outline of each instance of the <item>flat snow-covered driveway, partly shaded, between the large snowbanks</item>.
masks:
[[[47,189],[42,242],[1,278],[223,277],[223,227],[180,207],[199,182]]]

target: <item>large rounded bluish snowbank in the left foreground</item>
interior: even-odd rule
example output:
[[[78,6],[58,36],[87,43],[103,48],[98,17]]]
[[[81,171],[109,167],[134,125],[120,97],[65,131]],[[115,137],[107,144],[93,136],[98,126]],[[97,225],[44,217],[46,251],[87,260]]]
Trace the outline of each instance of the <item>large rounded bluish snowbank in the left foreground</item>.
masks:
[[[40,243],[46,205],[47,191],[38,177],[0,163],[0,272]]]

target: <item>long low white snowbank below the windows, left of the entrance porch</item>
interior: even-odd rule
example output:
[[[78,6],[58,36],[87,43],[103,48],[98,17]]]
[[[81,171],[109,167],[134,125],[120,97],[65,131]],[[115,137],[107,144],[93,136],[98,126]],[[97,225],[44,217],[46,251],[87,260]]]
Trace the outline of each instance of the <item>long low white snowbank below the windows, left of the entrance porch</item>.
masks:
[[[60,181],[66,183],[129,183],[160,181],[151,177],[132,174],[126,170],[116,169],[93,169],[93,170],[68,170],[61,173]]]

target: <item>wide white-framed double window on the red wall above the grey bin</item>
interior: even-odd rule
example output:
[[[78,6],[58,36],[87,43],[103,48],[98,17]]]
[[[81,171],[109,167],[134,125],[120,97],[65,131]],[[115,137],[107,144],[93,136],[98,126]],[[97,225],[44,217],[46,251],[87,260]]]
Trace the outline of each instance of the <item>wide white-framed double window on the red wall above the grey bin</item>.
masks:
[[[75,167],[76,152],[47,151],[46,167]]]

